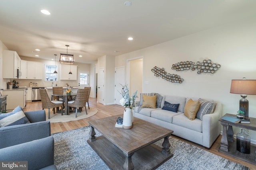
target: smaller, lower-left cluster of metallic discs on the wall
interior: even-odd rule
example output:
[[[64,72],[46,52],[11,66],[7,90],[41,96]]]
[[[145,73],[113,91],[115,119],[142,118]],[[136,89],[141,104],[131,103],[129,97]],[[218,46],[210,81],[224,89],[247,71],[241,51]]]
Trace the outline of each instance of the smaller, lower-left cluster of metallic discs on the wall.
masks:
[[[164,68],[159,68],[157,66],[154,66],[151,71],[154,73],[154,76],[157,77],[162,77],[162,79],[168,81],[168,82],[173,82],[173,83],[182,83],[183,78],[180,78],[177,74],[170,74],[167,73]]]

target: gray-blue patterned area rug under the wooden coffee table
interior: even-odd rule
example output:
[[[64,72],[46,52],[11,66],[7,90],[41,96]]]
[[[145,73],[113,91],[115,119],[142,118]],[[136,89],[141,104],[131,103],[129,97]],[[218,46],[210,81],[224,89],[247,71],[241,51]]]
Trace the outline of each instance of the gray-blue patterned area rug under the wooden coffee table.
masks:
[[[90,127],[52,134],[58,170],[108,170],[108,166],[88,145]],[[96,131],[96,130],[95,130]],[[101,134],[96,131],[96,137]],[[248,168],[176,138],[169,138],[172,158],[157,170],[247,170]],[[162,141],[156,142],[161,146]]]

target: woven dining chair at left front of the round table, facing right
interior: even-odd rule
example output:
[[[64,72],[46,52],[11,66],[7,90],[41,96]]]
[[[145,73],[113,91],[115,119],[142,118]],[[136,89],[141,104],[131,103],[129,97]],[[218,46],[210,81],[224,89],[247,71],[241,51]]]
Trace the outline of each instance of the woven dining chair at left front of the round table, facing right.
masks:
[[[50,119],[50,108],[53,108],[53,114],[55,114],[55,108],[61,107],[61,115],[63,115],[63,102],[58,100],[50,100],[46,89],[39,89],[41,101],[42,101],[42,108],[48,109],[48,119]]]

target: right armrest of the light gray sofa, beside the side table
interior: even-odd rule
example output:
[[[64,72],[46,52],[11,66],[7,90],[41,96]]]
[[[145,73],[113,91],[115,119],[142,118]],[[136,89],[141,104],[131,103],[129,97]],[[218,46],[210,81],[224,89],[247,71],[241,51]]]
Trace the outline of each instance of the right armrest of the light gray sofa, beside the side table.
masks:
[[[214,112],[203,116],[202,131],[203,131],[203,143],[205,147],[210,148],[212,143],[220,135],[221,125],[219,119],[222,115],[222,105],[216,104]]]

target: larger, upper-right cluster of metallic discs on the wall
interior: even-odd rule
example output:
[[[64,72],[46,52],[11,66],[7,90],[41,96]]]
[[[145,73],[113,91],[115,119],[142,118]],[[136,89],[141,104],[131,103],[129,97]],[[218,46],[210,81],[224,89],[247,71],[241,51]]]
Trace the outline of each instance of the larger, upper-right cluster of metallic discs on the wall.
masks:
[[[197,74],[204,73],[215,73],[219,68],[220,64],[213,63],[211,60],[203,60],[202,62],[193,63],[192,61],[184,61],[176,64],[172,64],[172,70],[183,71],[183,70],[196,70]]]

